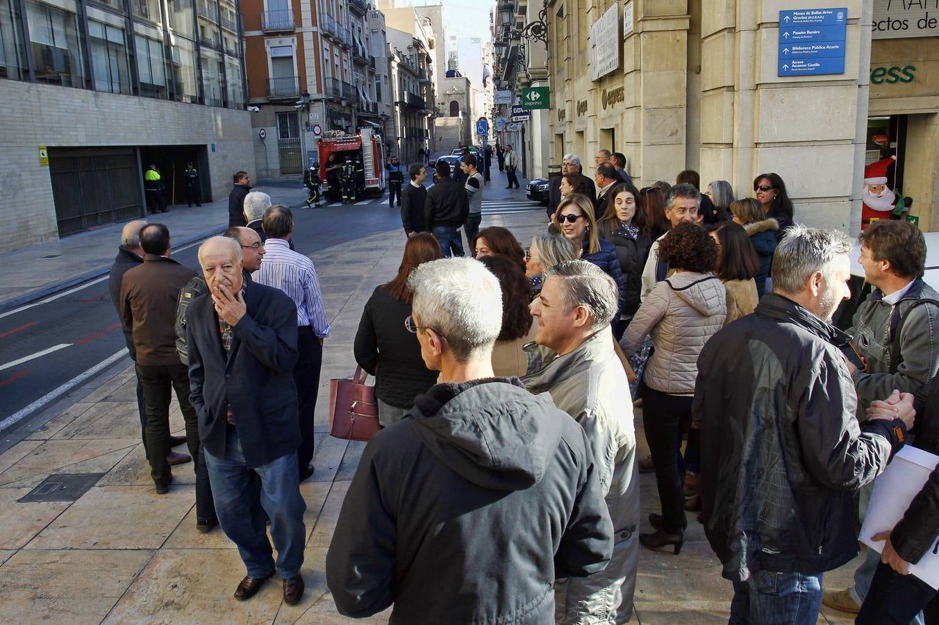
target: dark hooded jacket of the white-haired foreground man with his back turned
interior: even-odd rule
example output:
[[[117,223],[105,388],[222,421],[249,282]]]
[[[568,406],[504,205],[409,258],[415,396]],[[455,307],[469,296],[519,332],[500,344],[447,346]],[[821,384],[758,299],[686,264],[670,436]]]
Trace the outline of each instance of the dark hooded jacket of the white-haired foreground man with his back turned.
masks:
[[[339,611],[546,623],[556,577],[602,571],[612,525],[586,436],[517,378],[439,384],[362,453],[327,555]]]

